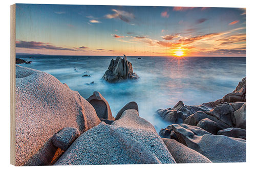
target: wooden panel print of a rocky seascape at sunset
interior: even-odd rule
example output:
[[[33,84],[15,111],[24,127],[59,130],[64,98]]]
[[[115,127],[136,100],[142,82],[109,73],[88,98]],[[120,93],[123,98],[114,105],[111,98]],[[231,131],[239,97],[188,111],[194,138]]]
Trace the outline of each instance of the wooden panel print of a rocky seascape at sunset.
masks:
[[[244,8],[12,5],[11,163],[246,162],[245,21]]]

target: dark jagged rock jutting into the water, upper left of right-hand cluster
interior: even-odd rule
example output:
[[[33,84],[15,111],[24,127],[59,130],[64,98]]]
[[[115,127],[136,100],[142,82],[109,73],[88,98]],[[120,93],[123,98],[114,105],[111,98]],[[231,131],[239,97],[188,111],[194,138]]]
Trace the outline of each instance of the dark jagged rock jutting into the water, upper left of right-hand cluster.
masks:
[[[187,106],[182,101],[179,101],[174,108],[159,109],[157,113],[167,122],[181,123],[189,115],[196,113],[197,111],[209,111],[205,106]]]

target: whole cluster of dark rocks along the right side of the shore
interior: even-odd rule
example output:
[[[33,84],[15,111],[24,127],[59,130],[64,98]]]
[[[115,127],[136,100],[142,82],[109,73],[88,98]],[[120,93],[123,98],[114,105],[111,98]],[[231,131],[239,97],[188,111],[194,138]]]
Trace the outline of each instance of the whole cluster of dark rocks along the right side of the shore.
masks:
[[[157,110],[167,122],[159,135],[176,140],[212,162],[246,162],[246,78],[215,102]],[[179,124],[177,124],[179,123]]]

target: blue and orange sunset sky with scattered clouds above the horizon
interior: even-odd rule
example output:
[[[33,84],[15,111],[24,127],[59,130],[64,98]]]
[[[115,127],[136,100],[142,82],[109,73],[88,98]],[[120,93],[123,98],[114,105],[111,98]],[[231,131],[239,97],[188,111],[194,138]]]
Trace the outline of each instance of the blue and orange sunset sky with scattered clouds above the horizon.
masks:
[[[245,57],[246,10],[16,4],[16,53]]]

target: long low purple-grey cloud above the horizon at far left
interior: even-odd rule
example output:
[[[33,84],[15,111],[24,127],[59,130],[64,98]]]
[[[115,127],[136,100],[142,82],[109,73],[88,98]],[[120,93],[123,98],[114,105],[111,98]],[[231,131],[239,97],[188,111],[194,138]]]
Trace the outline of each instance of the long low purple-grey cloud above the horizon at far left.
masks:
[[[36,42],[36,41],[16,41],[16,47],[18,48],[30,48],[30,49],[48,49],[48,50],[67,50],[67,51],[83,51],[79,48],[65,48],[61,46],[51,45],[50,43],[45,42]]]

